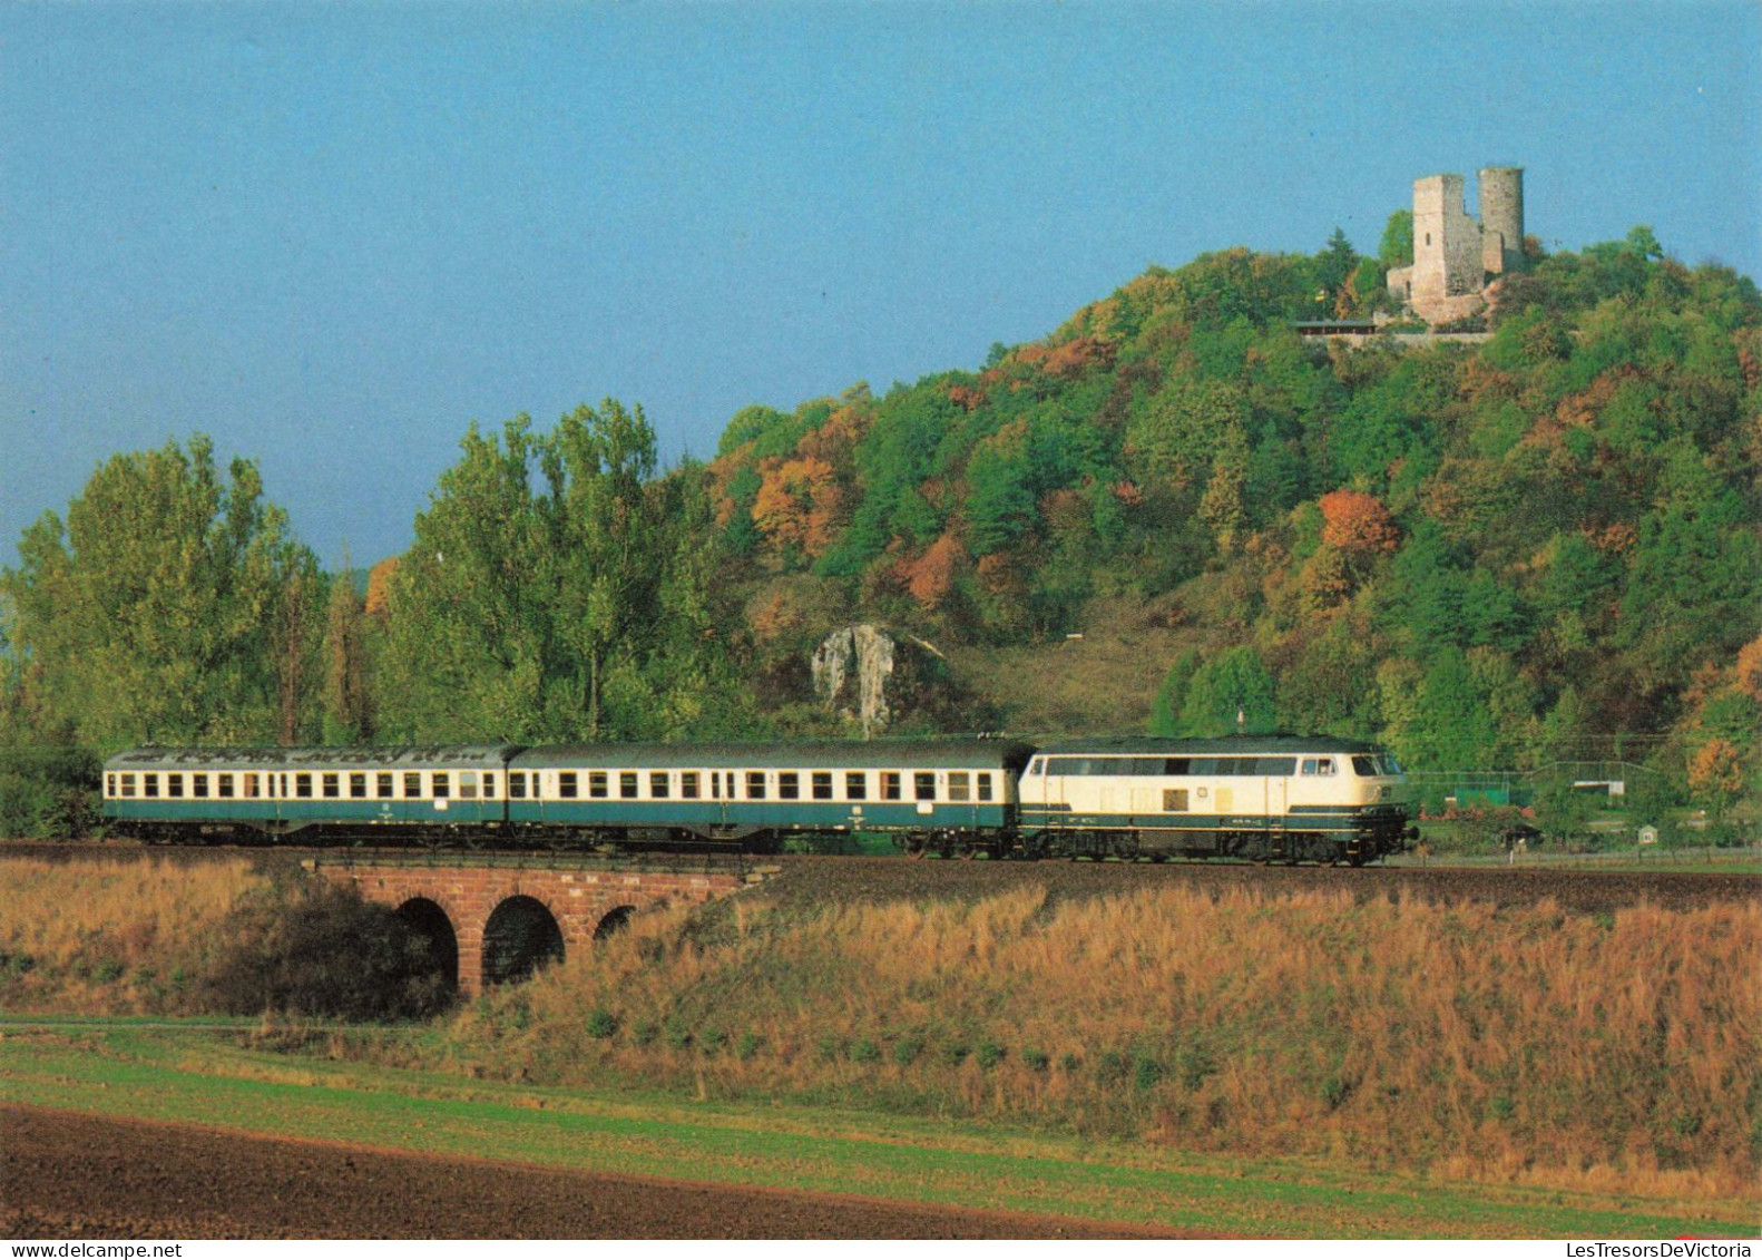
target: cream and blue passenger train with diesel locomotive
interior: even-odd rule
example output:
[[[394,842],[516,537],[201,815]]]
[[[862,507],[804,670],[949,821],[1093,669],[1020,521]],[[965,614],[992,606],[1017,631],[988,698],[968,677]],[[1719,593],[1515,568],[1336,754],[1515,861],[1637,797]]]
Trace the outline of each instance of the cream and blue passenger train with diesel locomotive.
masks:
[[[141,747],[111,834],[153,842],[911,853],[1362,865],[1418,832],[1374,744],[1330,737],[522,747]]]

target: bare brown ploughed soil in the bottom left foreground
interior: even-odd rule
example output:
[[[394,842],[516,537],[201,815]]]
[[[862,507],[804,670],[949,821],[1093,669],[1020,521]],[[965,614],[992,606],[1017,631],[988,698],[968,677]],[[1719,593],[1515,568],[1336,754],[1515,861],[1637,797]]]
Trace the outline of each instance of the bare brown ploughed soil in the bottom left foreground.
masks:
[[[1126,1239],[1054,1216],[562,1172],[0,1107],[12,1239]]]

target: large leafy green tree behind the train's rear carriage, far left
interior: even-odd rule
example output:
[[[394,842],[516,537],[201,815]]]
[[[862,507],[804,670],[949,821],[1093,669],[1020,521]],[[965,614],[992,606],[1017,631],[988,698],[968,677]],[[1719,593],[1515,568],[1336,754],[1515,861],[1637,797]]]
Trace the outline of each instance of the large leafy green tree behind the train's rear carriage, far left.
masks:
[[[255,463],[227,476],[194,437],[100,465],[67,508],[25,530],[0,574],[12,650],[35,705],[83,745],[264,742],[285,728],[277,638],[289,587],[317,573],[264,502]],[[301,726],[307,687],[292,705]]]

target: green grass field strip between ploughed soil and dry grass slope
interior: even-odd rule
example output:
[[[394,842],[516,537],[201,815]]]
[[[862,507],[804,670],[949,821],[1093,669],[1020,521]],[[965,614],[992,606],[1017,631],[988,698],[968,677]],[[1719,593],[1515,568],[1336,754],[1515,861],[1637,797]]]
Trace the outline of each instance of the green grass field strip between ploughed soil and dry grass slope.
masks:
[[[393,1040],[423,1029],[386,1029]],[[768,1101],[537,1089],[287,1056],[236,1034],[0,1024],[0,1100],[548,1167],[1276,1237],[1748,1235],[1753,1209],[1189,1156]]]

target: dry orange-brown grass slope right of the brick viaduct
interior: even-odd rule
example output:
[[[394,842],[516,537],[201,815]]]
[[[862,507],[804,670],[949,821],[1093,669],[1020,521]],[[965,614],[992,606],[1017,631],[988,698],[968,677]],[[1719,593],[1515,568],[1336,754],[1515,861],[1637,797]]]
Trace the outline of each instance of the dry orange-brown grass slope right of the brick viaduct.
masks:
[[[456,1052],[536,1078],[1753,1197],[1758,946],[1755,904],[1573,916],[1017,892],[788,918],[737,901],[708,922],[636,920],[495,996],[460,1019]]]

